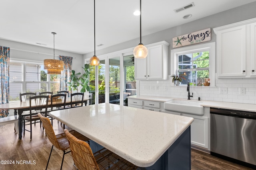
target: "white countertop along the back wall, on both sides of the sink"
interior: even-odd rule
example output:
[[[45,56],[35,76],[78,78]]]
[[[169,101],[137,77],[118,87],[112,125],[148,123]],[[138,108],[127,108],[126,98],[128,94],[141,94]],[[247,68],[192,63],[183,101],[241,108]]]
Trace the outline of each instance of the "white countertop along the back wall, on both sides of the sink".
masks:
[[[155,97],[155,96],[129,96],[128,98],[133,99],[140,99],[140,100],[151,100],[151,101],[158,101],[158,102],[168,102],[172,99],[177,98],[164,98],[164,97]],[[187,99],[180,99],[178,100],[187,100]],[[242,103],[232,103],[232,102],[215,102],[215,101],[208,101],[208,100],[191,100],[197,101],[204,107],[215,107],[215,108],[222,108],[222,109],[233,109],[233,110],[242,110],[242,111],[252,111],[256,112],[256,105],[255,104],[242,104]]]

